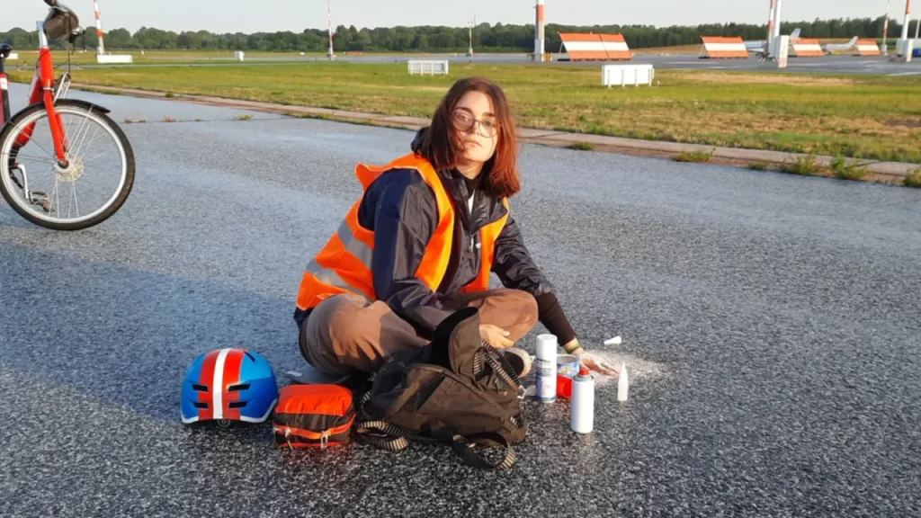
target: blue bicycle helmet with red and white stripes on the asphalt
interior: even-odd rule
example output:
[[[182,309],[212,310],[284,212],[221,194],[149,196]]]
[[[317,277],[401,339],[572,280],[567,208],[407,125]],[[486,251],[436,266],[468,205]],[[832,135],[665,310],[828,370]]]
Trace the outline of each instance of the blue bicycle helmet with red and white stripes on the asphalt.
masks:
[[[261,423],[278,402],[278,385],[269,362],[238,348],[199,356],[182,381],[182,422],[216,420]]]

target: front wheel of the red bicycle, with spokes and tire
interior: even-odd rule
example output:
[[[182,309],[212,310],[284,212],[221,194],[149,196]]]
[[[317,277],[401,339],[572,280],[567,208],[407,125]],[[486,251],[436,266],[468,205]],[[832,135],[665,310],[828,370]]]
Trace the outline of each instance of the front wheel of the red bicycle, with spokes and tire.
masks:
[[[65,163],[54,155],[48,112],[20,112],[0,134],[0,193],[23,218],[83,230],[111,218],[134,185],[134,150],[122,128],[86,104],[59,100]]]

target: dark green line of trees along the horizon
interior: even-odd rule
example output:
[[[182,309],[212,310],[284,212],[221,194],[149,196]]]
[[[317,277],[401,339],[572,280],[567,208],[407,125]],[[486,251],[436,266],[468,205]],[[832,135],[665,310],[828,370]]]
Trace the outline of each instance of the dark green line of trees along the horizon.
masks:
[[[801,22],[785,22],[783,34],[801,29],[803,38],[881,38],[884,17],[838,18]],[[914,35],[915,24],[910,25]],[[889,37],[898,38],[902,25],[891,19]],[[547,24],[546,51],[555,53],[560,48],[557,32],[622,33],[631,48],[665,47],[672,45],[693,45],[700,43],[700,36],[741,36],[744,40],[763,40],[767,28],[757,24],[705,24],[698,26],[654,27],[648,25],[594,25],[569,26]],[[473,28],[473,48],[477,53],[488,52],[531,52],[534,48],[534,26],[491,25],[482,23]],[[35,48],[38,33],[35,30],[11,29],[0,32],[0,41],[6,41],[18,49]],[[469,33],[467,28],[421,26],[375,29],[356,29],[355,26],[340,25],[332,35],[333,51],[344,52],[466,52]],[[52,42],[56,48],[63,47],[62,41]],[[86,41],[77,41],[77,47],[95,48],[95,30],[87,30]],[[303,32],[278,31],[252,34],[218,34],[207,30],[174,32],[154,28],[141,28],[134,33],[128,29],[113,29],[105,34],[107,50],[192,50],[192,51],[265,51],[265,52],[310,52],[325,53],[329,48],[329,33],[326,29],[305,29]]]

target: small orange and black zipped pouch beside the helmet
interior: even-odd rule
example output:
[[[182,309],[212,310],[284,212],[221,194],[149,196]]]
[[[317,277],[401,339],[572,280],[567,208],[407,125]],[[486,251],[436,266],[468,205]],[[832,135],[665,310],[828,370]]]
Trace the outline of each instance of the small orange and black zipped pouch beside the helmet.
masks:
[[[340,385],[288,385],[272,418],[275,444],[311,448],[344,444],[355,422],[352,391]]]

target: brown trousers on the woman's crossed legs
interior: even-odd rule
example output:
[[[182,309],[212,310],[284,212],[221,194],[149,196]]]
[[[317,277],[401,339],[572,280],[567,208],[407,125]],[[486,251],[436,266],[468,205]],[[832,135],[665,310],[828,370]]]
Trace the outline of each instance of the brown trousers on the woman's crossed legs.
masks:
[[[537,324],[537,301],[517,289],[490,289],[461,293],[442,300],[451,310],[475,307],[480,324],[493,324],[508,331],[508,339],[518,341]],[[301,326],[300,353],[318,371],[341,376],[378,371],[392,354],[423,347],[428,340],[418,336],[413,325],[404,321],[380,300],[342,294],[323,300],[307,323]]]

